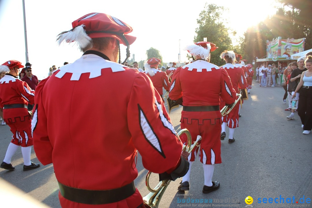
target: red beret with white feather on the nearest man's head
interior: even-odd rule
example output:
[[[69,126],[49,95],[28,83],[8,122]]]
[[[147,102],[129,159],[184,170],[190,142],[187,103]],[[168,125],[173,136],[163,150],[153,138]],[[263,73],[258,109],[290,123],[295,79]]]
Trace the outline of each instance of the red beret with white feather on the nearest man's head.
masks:
[[[127,35],[133,29],[125,22],[104,13],[90,13],[71,23],[73,29],[61,32],[57,41],[67,43],[77,41],[80,48],[89,44],[91,38],[113,37],[125,46],[131,45],[136,37]]]

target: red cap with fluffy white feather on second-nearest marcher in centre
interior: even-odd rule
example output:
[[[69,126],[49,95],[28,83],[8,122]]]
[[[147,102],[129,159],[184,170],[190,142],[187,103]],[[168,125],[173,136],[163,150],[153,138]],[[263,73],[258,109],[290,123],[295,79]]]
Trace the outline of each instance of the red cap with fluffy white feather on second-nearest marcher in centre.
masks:
[[[185,49],[193,56],[200,56],[202,59],[207,60],[209,57],[210,51],[216,50],[215,44],[211,42],[196,42],[195,45],[189,45]]]

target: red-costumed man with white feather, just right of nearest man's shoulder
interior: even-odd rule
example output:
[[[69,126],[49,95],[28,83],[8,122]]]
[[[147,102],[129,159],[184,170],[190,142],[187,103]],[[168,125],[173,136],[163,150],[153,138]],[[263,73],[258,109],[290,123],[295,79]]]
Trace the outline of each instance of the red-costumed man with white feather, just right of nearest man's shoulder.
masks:
[[[160,94],[161,97],[163,97],[163,88],[165,88],[165,90],[168,91],[170,88],[170,82],[166,72],[158,69],[158,64],[160,63],[161,63],[160,59],[150,58],[144,64],[145,68],[144,73],[149,76],[157,92]]]

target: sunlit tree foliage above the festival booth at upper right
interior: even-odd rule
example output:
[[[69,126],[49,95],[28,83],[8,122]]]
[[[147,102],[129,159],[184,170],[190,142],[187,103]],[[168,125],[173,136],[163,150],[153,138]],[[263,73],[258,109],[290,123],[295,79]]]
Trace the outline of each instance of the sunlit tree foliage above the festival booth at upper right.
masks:
[[[286,2],[286,0],[281,1]],[[275,15],[266,18],[257,26],[248,28],[242,44],[247,59],[266,56],[266,40],[272,41],[273,38],[279,36],[282,39],[305,38],[305,50],[310,49],[312,47],[312,22],[309,16],[303,17],[302,14],[305,12],[295,7],[291,7],[290,11],[278,8]]]

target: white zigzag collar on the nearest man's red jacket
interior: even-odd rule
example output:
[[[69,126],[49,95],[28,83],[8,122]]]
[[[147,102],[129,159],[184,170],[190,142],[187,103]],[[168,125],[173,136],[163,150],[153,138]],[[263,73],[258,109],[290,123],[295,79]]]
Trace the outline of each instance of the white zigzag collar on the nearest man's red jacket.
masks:
[[[62,78],[66,73],[71,73],[71,80],[79,80],[81,74],[90,73],[89,78],[101,76],[101,70],[111,68],[112,72],[125,71],[124,65],[115,63],[113,61],[105,60],[95,54],[86,54],[77,59],[72,64],[66,64],[60,69],[56,70],[58,73],[55,75]]]

